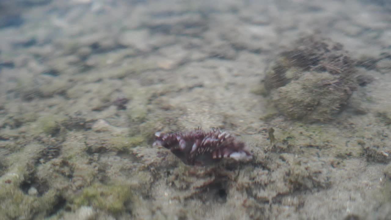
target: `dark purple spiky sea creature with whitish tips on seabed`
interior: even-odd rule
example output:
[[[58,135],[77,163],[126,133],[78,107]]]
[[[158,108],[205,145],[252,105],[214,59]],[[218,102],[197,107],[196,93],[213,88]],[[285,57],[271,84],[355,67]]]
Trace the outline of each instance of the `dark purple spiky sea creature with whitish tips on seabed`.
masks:
[[[191,132],[155,133],[153,146],[170,149],[174,155],[188,165],[210,165],[222,158],[235,160],[252,159],[244,142],[238,141],[231,133],[217,128],[205,132],[195,128]]]

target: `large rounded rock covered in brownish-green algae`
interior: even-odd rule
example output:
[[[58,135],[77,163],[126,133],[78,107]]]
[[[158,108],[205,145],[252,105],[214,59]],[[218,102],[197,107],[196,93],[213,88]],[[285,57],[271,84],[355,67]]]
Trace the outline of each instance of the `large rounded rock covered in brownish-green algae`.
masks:
[[[343,45],[318,35],[303,37],[266,70],[265,95],[291,119],[328,121],[356,88],[354,65]]]

